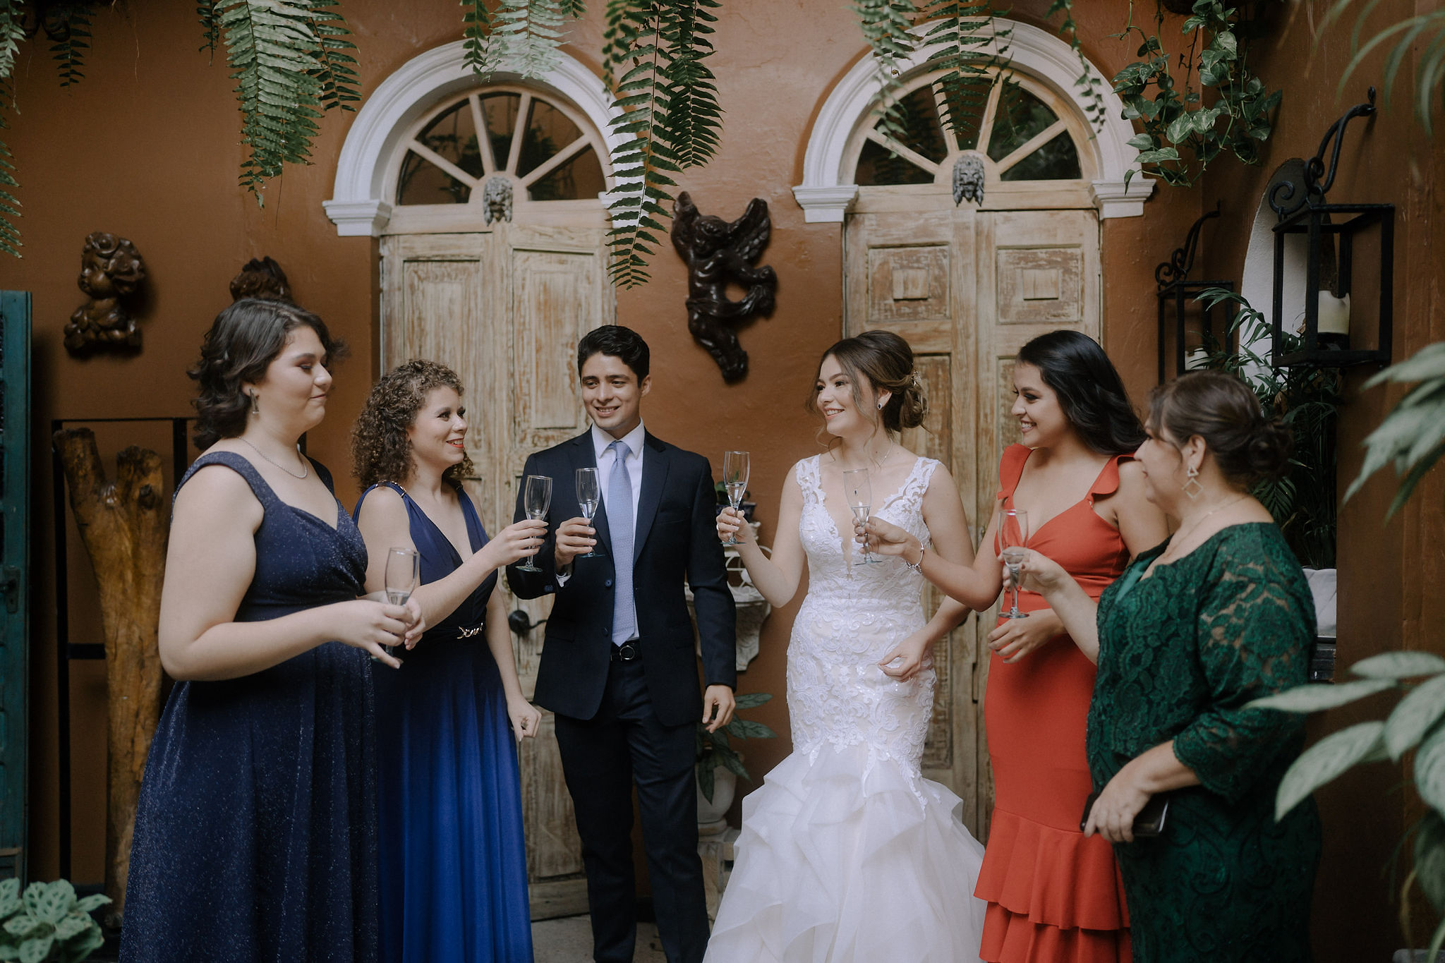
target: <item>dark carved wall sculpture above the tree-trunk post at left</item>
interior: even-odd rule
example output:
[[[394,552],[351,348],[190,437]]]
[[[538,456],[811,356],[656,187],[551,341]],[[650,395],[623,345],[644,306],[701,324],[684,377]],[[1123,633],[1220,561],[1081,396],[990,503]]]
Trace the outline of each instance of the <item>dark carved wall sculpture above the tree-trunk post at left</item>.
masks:
[[[100,349],[137,351],[140,332],[121,299],[136,293],[143,280],[146,263],[134,244],[105,231],[88,234],[75,283],[90,300],[65,325],[65,349],[79,357]]]

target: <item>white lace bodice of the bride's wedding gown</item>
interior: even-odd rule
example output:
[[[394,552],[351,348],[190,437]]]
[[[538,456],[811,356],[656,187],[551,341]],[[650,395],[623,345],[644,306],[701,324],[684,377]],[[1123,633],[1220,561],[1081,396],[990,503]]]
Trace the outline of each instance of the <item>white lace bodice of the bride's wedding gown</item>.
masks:
[[[874,515],[929,544],[923,492],[938,462],[919,458],[903,487]],[[879,660],[923,627],[923,576],[897,557],[860,565],[824,504],[819,456],[798,462],[803,508],[798,534],[808,553],[808,598],[788,647],[788,709],[793,748],[816,754],[827,744],[864,744],[868,758],[892,758],[919,775],[933,706],[933,670],[900,683]]]

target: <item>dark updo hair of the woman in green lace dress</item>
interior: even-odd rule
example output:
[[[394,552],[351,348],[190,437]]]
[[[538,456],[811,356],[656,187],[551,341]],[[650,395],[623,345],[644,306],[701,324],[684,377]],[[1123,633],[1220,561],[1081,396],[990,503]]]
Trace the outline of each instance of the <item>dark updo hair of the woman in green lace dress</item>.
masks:
[[[1202,437],[1220,472],[1237,488],[1282,475],[1295,446],[1279,419],[1264,417],[1248,385],[1221,371],[1192,371],[1155,388],[1149,427],[1156,433],[1163,427],[1181,445]]]

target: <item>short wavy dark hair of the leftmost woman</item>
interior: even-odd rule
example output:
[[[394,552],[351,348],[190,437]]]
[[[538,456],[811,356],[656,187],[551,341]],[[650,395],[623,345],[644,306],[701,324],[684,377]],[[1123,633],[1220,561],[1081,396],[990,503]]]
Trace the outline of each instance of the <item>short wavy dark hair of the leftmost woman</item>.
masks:
[[[241,387],[266,377],[286,339],[296,328],[311,328],[325,349],[329,367],[345,357],[345,342],[332,338],[327,323],[289,302],[243,297],[215,316],[201,341],[201,360],[186,371],[199,385],[195,406],[195,446],[205,450],[223,437],[246,430],[251,400]]]

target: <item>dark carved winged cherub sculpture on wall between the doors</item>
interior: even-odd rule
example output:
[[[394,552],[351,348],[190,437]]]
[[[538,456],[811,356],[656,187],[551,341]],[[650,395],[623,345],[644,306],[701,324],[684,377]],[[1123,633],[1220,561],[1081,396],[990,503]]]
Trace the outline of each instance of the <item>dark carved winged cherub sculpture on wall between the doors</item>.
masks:
[[[773,313],[777,273],[754,266],[772,230],[762,198],[753,198],[731,224],[699,214],[686,191],[672,208],[672,245],[688,264],[688,331],[718,362],[725,381],[747,374],[737,326],[754,315]],[[743,286],[741,300],[728,300],[728,282]]]

